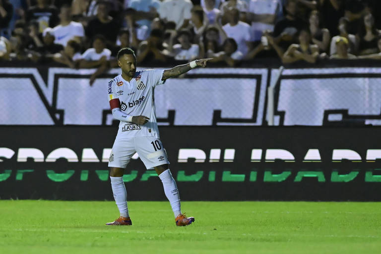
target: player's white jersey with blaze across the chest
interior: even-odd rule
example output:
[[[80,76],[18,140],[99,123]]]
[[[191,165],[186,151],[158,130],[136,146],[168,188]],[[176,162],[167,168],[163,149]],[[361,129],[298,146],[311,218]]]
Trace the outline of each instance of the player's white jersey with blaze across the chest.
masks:
[[[109,81],[108,98],[119,99],[121,111],[130,116],[146,116],[150,120],[145,125],[121,121],[117,137],[149,137],[159,138],[156,121],[154,90],[156,85],[164,84],[164,70],[146,69],[136,71],[128,82],[122,75]]]

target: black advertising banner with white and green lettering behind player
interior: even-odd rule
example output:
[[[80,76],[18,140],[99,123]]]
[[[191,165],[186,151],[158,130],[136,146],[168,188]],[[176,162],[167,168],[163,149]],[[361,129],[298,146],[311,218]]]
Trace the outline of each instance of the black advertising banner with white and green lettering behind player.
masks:
[[[160,127],[183,200],[380,201],[378,127]],[[0,126],[0,198],[112,200],[116,127]],[[132,159],[128,200],[165,200]]]

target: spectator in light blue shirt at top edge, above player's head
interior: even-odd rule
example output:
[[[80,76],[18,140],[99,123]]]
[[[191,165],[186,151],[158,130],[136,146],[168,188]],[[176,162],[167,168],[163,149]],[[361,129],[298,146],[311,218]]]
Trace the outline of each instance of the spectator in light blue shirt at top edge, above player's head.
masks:
[[[130,0],[129,7],[136,10],[134,20],[139,26],[148,27],[148,34],[150,33],[150,27],[152,19],[158,16],[157,9],[160,6],[158,0]]]

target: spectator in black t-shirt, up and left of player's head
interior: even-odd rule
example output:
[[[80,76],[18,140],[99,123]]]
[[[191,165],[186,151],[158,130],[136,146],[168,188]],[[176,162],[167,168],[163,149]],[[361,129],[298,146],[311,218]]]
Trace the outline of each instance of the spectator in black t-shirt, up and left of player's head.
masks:
[[[106,38],[107,45],[115,45],[119,30],[121,29],[121,21],[109,15],[110,5],[108,1],[101,0],[97,6],[97,15],[89,21],[86,28],[86,36],[88,39],[93,40],[93,37],[102,34]]]

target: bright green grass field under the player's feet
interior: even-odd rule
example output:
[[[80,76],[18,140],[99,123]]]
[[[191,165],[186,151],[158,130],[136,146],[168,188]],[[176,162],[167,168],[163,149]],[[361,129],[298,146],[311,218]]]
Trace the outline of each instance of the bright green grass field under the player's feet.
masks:
[[[128,203],[132,226],[105,226],[114,202],[0,200],[0,253],[381,253],[381,203]]]

